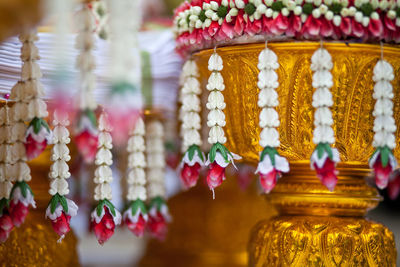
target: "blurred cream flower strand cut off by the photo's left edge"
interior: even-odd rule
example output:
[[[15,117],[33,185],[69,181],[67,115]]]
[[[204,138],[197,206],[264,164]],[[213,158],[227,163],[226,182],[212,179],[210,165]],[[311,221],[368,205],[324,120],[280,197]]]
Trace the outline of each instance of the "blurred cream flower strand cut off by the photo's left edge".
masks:
[[[10,197],[15,177],[11,168],[11,125],[8,119],[9,108],[4,106],[0,109],[0,199]]]

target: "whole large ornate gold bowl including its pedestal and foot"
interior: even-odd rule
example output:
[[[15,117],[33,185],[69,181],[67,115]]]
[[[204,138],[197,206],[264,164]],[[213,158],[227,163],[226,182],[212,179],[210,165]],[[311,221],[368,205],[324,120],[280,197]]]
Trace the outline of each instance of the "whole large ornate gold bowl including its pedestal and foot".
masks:
[[[373,152],[372,70],[380,58],[380,46],[324,43],[334,64],[331,110],[334,146],[342,161],[333,192],[321,185],[309,166],[315,148],[310,60],[320,43],[268,46],[277,54],[280,64],[279,152],[289,159],[291,170],[267,195],[280,215],[253,229],[248,247],[250,266],[395,266],[393,234],[383,225],[362,217],[380,201],[378,192],[364,181],[370,173],[367,162]],[[258,161],[261,151],[257,63],[263,48],[264,44],[248,44],[217,49],[224,61],[221,74],[225,82],[227,147],[251,163]],[[212,52],[204,50],[194,55],[202,88],[210,74],[207,62]],[[400,48],[385,45],[384,57],[392,64],[394,73],[400,73]],[[394,117],[400,125],[400,75],[395,76],[392,84]],[[399,158],[400,149],[394,154]]]

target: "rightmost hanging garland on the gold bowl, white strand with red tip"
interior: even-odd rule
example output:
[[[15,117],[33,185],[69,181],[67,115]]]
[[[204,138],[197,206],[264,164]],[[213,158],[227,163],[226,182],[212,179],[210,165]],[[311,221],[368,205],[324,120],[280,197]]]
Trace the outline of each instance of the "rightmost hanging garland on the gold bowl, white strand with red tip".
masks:
[[[393,67],[384,59],[379,60],[374,67],[372,79],[375,82],[373,98],[376,100],[373,115],[374,141],[376,148],[369,160],[370,168],[374,169],[375,183],[379,189],[388,185],[389,176],[397,167],[393,149],[396,147],[396,123],[393,118]]]

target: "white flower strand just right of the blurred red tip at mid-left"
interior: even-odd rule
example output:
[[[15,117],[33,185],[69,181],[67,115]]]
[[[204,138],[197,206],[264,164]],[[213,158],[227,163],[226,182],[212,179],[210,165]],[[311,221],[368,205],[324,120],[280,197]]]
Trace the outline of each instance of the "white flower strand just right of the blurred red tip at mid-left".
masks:
[[[112,138],[111,127],[109,125],[107,115],[102,113],[99,118],[99,144],[96,154],[95,164],[97,168],[94,172],[94,199],[112,199],[112,190],[110,183],[113,180],[111,165],[112,160]]]

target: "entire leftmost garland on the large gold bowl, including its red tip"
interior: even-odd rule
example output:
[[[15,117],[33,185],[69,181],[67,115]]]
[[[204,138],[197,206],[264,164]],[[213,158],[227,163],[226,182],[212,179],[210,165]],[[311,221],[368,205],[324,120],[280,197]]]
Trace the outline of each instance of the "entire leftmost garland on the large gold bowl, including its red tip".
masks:
[[[182,95],[182,137],[184,156],[181,161],[181,180],[186,188],[196,185],[199,179],[200,168],[204,166],[204,154],[201,152],[202,144],[200,137],[201,119],[200,83],[197,80],[199,73],[196,62],[188,60],[183,65],[182,74],[184,83],[181,90]]]

